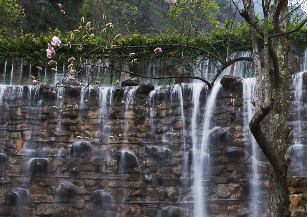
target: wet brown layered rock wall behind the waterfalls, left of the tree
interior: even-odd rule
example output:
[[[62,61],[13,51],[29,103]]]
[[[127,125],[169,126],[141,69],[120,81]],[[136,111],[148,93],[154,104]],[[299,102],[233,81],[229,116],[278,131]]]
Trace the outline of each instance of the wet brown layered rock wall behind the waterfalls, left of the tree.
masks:
[[[199,172],[193,157],[204,156],[192,147],[193,139],[201,138],[191,130],[193,85],[84,90],[63,83],[0,86],[0,215],[192,216],[193,177]],[[242,82],[225,77],[221,83],[210,113],[210,171],[199,189],[206,212],[266,216],[263,203],[251,207]],[[198,90],[199,124],[210,91]],[[257,159],[263,202],[268,164],[261,151]]]

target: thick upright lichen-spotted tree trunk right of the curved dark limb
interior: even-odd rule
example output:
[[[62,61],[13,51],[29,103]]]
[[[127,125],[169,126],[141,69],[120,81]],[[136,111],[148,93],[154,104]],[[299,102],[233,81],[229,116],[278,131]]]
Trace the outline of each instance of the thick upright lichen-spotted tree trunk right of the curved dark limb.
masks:
[[[274,1],[274,10],[278,10],[280,0]],[[276,13],[275,13],[276,15]],[[286,31],[286,21],[282,18],[287,15],[287,2],[282,7],[280,14],[274,16],[274,34]],[[281,17],[281,18],[280,18]],[[279,24],[279,22],[282,21]],[[287,80],[290,69],[287,66],[287,55],[290,51],[290,43],[286,36],[273,39],[273,49],[278,58],[279,78],[276,78],[273,70],[270,70],[271,98],[275,100],[272,110],[269,113],[269,143],[276,151],[279,161],[282,162],[282,169],[279,171],[270,164],[269,166],[269,216],[281,217],[290,216],[289,211],[289,190],[287,186],[287,169],[291,158],[286,155],[286,143],[290,128],[286,125],[287,120]],[[281,171],[280,171],[281,170]]]

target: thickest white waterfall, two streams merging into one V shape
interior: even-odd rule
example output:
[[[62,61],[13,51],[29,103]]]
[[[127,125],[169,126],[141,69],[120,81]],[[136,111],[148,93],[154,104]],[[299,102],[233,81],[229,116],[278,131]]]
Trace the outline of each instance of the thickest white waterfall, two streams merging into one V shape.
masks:
[[[200,85],[193,86],[193,99],[196,99],[200,94]],[[200,128],[196,130],[196,111],[199,111],[199,104],[193,104],[192,116],[192,167],[193,167],[193,216],[202,217],[208,216],[207,196],[210,184],[210,150],[209,150],[209,133],[213,128],[211,122],[212,111],[215,110],[216,96],[221,88],[220,82],[213,86],[207,96],[206,105],[204,108],[203,118]],[[194,138],[194,139],[193,139]]]

